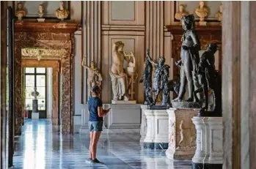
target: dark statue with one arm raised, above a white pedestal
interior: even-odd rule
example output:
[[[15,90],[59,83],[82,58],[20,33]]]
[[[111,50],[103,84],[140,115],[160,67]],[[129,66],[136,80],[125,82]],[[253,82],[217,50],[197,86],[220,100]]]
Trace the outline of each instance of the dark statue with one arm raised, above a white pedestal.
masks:
[[[153,61],[153,59],[150,57],[148,49],[146,53],[147,53],[147,59],[150,61],[151,64],[153,64],[154,67],[156,67],[155,73],[153,76],[153,91],[156,92],[156,96],[153,101],[153,104],[156,105],[158,94],[160,94],[160,91],[163,91],[164,99],[162,100],[161,105],[169,106],[170,105],[169,98],[168,98],[169,97],[169,86],[168,86],[169,65],[164,64],[165,62],[164,56],[160,56],[158,59],[158,62],[156,62],[156,61]]]

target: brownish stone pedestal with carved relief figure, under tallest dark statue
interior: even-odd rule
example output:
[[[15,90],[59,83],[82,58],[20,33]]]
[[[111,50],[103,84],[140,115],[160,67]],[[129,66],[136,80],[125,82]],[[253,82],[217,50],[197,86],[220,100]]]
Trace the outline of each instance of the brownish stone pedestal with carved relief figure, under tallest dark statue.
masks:
[[[169,147],[166,151],[169,159],[192,159],[196,150],[196,129],[191,119],[200,109],[170,108]]]

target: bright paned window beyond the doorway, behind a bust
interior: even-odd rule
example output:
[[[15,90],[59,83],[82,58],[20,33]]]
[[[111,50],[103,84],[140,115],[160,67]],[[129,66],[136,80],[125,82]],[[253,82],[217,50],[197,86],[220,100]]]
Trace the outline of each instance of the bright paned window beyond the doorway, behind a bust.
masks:
[[[26,88],[26,110],[32,110],[34,97],[32,92],[37,88],[39,95],[38,110],[46,110],[46,68],[26,67],[25,68],[25,88]]]

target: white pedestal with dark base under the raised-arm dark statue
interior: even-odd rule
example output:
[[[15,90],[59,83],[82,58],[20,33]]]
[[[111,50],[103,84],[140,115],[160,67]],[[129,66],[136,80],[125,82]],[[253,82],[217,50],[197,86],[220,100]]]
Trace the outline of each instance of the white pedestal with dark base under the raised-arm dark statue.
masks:
[[[144,110],[147,119],[147,134],[144,147],[147,149],[168,148],[167,110]]]

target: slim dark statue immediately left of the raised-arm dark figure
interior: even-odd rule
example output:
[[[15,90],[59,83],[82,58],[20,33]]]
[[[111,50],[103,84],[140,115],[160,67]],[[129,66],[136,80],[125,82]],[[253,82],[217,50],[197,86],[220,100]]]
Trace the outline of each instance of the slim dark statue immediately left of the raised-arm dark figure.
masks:
[[[145,93],[145,105],[153,105],[153,96],[152,96],[152,71],[153,66],[150,63],[150,60],[146,58],[145,61],[145,70],[142,78],[139,80],[139,83],[144,82],[144,93]]]

